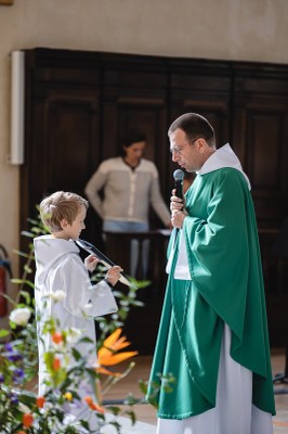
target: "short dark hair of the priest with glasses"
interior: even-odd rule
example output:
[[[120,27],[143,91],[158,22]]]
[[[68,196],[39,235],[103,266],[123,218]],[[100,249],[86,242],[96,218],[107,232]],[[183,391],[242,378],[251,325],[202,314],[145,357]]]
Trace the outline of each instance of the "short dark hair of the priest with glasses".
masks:
[[[209,146],[215,145],[215,133],[211,124],[201,115],[197,113],[185,113],[178,117],[168,130],[170,137],[178,128],[182,129],[189,143],[196,139],[204,138]]]

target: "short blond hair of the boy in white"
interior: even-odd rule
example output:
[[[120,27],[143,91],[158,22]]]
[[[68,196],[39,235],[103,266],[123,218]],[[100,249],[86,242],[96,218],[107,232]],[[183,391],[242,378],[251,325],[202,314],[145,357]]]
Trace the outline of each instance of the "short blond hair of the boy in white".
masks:
[[[78,194],[56,191],[40,203],[41,220],[51,232],[58,232],[62,230],[61,221],[63,219],[66,219],[68,225],[74,222],[81,205],[86,208],[89,207],[88,201]]]

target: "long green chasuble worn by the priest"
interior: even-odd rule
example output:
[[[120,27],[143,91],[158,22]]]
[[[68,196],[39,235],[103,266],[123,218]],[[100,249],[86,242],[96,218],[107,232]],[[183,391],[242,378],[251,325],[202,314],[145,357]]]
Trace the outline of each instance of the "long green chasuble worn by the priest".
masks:
[[[175,244],[171,237],[173,260],[147,399],[155,398],[159,374],[172,373],[172,392],[156,394],[159,418],[184,419],[213,408],[226,323],[231,357],[253,372],[252,403],[275,414],[258,229],[247,182],[231,167],[198,175],[185,201],[182,230],[191,280],[173,278],[180,237]]]

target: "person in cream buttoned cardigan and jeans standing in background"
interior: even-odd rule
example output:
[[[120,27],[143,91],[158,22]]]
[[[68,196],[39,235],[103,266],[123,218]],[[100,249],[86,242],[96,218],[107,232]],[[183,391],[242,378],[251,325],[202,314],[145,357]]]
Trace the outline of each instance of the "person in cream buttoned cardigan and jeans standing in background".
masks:
[[[103,219],[104,232],[146,232],[149,230],[149,205],[170,228],[170,212],[160,193],[155,164],[142,158],[146,138],[131,130],[121,144],[122,156],[104,161],[86,186],[91,205]],[[104,199],[100,192],[103,190]],[[148,243],[143,243],[143,276],[147,271]],[[131,276],[135,276],[139,257],[136,240],[131,246]]]

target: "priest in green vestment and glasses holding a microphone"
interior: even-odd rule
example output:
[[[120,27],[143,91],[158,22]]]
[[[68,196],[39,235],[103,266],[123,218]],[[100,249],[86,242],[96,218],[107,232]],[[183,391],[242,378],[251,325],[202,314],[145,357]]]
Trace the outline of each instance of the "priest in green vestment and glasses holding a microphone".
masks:
[[[249,179],[196,113],[168,131],[172,161],[196,178],[171,197],[168,283],[147,400],[157,434],[272,434],[265,297]],[[167,392],[161,382],[172,373]]]

